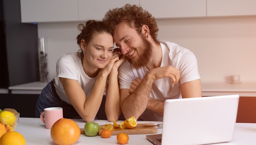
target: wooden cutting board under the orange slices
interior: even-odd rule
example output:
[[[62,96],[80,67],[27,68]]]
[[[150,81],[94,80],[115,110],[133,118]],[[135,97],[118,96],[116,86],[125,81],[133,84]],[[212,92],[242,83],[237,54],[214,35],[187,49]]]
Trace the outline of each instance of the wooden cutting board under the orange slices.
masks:
[[[155,125],[153,123],[138,123],[137,126],[135,128],[131,128],[131,129],[120,129],[120,128],[114,128],[114,130],[112,130],[112,135],[117,135],[121,132],[126,133],[126,134],[155,134],[157,133],[157,128],[155,126],[151,126],[151,125]],[[105,125],[100,125],[99,126],[99,136],[101,136],[101,131],[102,126]],[[147,126],[147,127],[144,127]],[[84,128],[80,128],[81,134],[85,134],[84,132]]]

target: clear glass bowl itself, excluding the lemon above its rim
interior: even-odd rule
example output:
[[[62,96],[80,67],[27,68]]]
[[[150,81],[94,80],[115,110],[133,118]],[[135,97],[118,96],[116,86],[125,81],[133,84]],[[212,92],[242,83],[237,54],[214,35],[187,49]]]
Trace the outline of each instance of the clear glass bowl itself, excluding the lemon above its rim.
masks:
[[[6,129],[6,132],[15,131],[18,126],[19,119],[20,113],[12,117],[0,118],[0,131],[5,131],[4,128]]]

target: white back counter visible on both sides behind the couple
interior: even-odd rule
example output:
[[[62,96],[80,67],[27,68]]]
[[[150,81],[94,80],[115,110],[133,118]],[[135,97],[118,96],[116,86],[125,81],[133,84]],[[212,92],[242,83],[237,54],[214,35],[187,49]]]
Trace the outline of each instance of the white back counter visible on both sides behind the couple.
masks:
[[[46,82],[31,82],[9,87],[13,94],[40,94]],[[228,82],[202,82],[202,95],[234,95],[256,97],[256,82],[231,84]]]

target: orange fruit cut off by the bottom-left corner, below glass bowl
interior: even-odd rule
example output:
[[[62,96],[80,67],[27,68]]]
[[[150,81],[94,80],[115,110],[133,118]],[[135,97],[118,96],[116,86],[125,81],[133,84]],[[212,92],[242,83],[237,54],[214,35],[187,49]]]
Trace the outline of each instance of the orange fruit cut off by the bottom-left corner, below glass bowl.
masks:
[[[24,136],[19,132],[12,131],[3,134],[0,138],[0,145],[25,145]]]

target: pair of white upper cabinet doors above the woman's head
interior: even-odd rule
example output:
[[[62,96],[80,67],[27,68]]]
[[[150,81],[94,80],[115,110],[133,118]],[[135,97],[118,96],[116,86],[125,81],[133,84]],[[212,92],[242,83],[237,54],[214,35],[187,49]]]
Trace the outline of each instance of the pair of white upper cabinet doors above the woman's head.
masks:
[[[21,22],[75,22],[102,20],[112,8],[139,0],[20,0]]]

